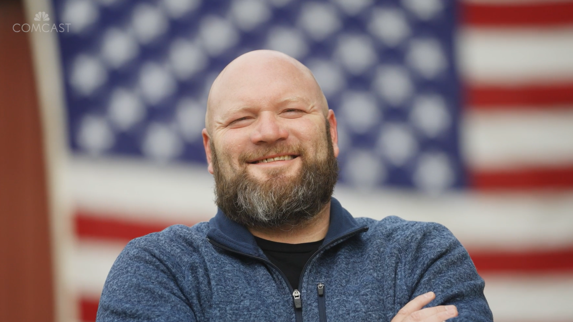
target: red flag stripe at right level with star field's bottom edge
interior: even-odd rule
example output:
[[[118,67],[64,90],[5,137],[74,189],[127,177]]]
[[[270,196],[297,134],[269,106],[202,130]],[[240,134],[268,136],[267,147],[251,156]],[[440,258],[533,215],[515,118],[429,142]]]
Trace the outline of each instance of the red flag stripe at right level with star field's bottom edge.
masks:
[[[478,190],[573,189],[573,166],[474,171],[469,183]]]

